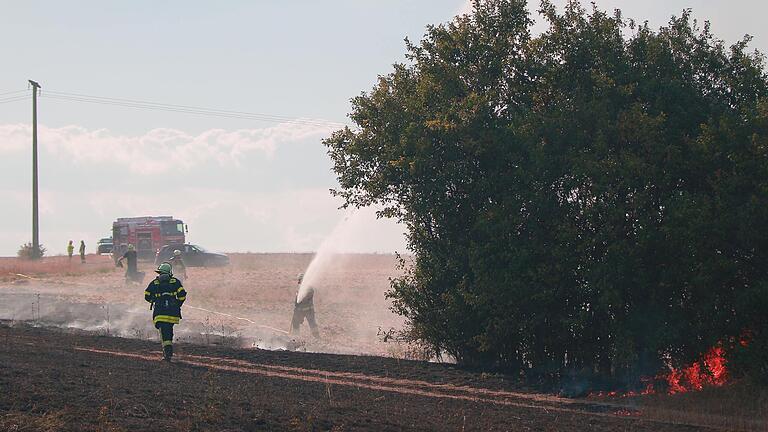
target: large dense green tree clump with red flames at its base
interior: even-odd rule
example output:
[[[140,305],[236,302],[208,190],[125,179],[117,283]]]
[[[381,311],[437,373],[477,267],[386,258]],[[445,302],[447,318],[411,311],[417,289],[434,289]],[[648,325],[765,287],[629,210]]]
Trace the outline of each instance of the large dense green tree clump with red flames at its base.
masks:
[[[467,365],[630,381],[764,340],[762,55],[689,11],[658,31],[540,12],[536,37],[524,0],[429,27],[325,141],[346,204],[408,227],[389,292],[408,334]]]

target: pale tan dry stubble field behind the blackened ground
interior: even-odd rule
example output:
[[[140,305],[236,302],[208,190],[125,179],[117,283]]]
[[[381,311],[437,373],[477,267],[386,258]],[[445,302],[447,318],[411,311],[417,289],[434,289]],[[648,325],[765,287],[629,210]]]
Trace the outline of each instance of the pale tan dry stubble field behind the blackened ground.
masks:
[[[321,337],[306,324],[288,337],[296,276],[310,254],[232,254],[222,268],[190,268],[182,339],[244,347],[287,348],[377,355],[406,355],[397,344],[383,344],[380,331],[402,320],[389,311],[384,293],[398,274],[392,255],[340,255],[322,270],[315,309]],[[140,263],[148,283],[154,265]],[[154,336],[145,285],[126,284],[124,270],[109,256],[88,256],[86,264],[67,257],[40,262],[0,259],[0,317],[36,319],[47,324],[109,332],[118,336]],[[39,296],[39,297],[38,297]]]

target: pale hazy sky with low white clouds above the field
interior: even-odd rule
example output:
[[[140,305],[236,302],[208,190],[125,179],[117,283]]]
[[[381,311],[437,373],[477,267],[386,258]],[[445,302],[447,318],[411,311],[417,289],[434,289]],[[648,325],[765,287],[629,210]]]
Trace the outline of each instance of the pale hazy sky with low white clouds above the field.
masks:
[[[556,1],[562,5],[564,1]],[[3,1],[0,255],[31,239],[31,102],[39,99],[41,241],[89,246],[117,217],[173,215],[223,251],[309,251],[342,218],[320,140],[334,127],[92,105],[47,91],[346,122],[349,99],[403,60],[403,38],[463,0]],[[598,0],[657,27],[684,8],[768,51],[762,0]],[[534,3],[534,6],[538,2]],[[533,8],[535,10],[535,7]],[[540,27],[538,27],[540,28]],[[372,216],[352,251],[404,251]]]

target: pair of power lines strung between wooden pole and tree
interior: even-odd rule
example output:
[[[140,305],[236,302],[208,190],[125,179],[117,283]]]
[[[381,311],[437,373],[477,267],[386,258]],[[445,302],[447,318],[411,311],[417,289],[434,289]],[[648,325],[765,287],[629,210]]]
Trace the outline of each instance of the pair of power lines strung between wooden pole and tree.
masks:
[[[167,104],[160,102],[141,101],[135,99],[120,99],[103,96],[92,96],[81,93],[67,93],[48,90],[43,93],[42,97],[73,102],[84,102],[99,105],[112,105],[126,108],[136,108],[144,110],[165,111],[165,112],[177,112],[185,114],[195,114],[210,117],[224,117],[243,120],[256,120],[265,122],[277,122],[277,123],[292,123],[292,124],[307,124],[313,126],[330,126],[330,127],[344,127],[344,123],[332,122],[328,120],[320,119],[304,119],[295,117],[278,116],[271,114],[259,114],[250,113],[244,111],[232,111],[221,110],[215,108],[203,108],[189,105]]]

